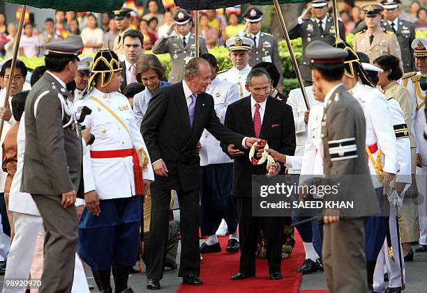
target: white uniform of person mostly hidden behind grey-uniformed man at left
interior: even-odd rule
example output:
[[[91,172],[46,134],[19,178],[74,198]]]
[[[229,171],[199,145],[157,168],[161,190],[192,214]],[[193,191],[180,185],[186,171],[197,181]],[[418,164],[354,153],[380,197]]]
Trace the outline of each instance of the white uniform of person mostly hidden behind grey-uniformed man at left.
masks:
[[[8,266],[5,278],[27,279],[29,276],[33,252],[36,247],[37,236],[45,235],[43,219],[38,208],[29,193],[20,192],[22,181],[22,168],[24,166],[25,151],[25,115],[22,114],[20,127],[17,132],[17,167],[13,176],[9,193],[9,210],[14,212],[15,237],[13,238],[10,253],[8,255]],[[75,267],[72,293],[89,293],[86,275],[82,261],[75,254]],[[13,292],[24,293],[27,288],[13,290]],[[7,292],[3,289],[3,293]]]

